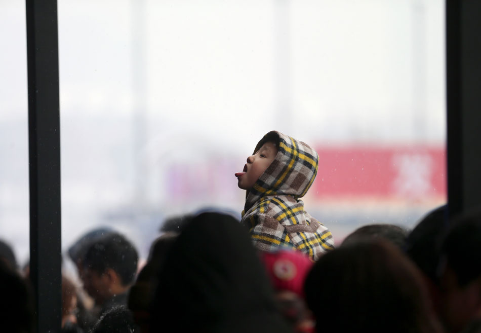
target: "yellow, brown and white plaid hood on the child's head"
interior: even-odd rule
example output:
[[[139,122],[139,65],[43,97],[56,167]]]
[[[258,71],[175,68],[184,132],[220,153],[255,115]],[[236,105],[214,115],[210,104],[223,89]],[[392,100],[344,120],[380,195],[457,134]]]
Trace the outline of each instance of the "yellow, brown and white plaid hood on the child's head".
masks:
[[[247,191],[247,212],[260,198],[269,195],[290,195],[303,197],[312,185],[319,156],[308,144],[286,134],[270,131],[257,143],[254,154],[272,137],[278,137],[278,151],[274,161]]]

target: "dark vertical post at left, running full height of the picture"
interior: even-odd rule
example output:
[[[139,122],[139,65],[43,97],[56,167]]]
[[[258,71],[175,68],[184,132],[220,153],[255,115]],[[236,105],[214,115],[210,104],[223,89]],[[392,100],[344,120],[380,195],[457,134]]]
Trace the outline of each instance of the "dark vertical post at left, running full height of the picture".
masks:
[[[37,332],[61,325],[60,102],[56,0],[26,0],[30,279]]]

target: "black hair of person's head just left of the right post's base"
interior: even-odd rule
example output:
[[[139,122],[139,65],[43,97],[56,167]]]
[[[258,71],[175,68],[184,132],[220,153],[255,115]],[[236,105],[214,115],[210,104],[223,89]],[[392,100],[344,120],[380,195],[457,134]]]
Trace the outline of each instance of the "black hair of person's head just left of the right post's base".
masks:
[[[448,226],[448,206],[439,206],[427,213],[406,240],[406,254],[435,284],[439,282],[439,255]]]

